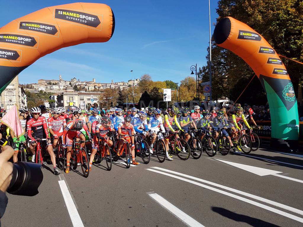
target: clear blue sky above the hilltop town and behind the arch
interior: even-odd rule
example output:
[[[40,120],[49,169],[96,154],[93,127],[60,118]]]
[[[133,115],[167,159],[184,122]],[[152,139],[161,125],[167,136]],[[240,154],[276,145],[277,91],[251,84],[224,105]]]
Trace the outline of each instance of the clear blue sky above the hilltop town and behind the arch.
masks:
[[[77,1],[21,1],[1,3],[0,27],[53,5]],[[81,1],[109,5],[115,14],[115,32],[105,43],[86,43],[63,48],[38,59],[19,74],[20,83],[38,79],[73,77],[108,83],[127,81],[145,73],[154,81],[179,82],[190,75],[190,66],[206,64],[209,42],[208,0]],[[217,1],[211,0],[211,34]],[[81,56],[79,58],[79,56]]]

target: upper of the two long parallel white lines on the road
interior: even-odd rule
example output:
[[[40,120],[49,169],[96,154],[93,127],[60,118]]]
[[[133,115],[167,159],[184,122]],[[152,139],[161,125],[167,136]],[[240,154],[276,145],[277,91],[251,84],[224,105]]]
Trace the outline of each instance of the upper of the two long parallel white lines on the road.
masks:
[[[168,173],[174,173],[176,175],[180,175],[180,176],[184,176],[184,177],[187,177],[187,178],[190,178],[190,179],[194,179],[194,180],[206,183],[206,184],[210,184],[212,186],[216,186],[218,188],[222,188],[222,189],[234,192],[234,193],[238,193],[238,194],[240,194],[242,196],[247,196],[249,198],[256,199],[256,200],[259,200],[261,202],[266,202],[266,203],[271,204],[273,206],[277,206],[277,207],[280,207],[282,209],[289,210],[291,212],[303,215],[303,211],[302,210],[299,210],[299,209],[293,208],[291,206],[287,206],[287,205],[284,205],[284,204],[281,204],[281,203],[278,203],[278,202],[275,202],[275,201],[272,201],[272,200],[269,200],[269,199],[265,199],[265,198],[262,198],[260,196],[255,196],[255,195],[252,195],[252,194],[247,193],[247,192],[242,192],[242,191],[237,190],[237,189],[233,189],[233,188],[230,188],[230,187],[227,187],[227,186],[224,186],[224,185],[220,185],[220,184],[213,183],[213,182],[210,182],[210,181],[207,181],[207,180],[203,180],[203,179],[200,179],[200,178],[197,178],[197,177],[194,177],[194,176],[189,176],[189,175],[186,175],[186,174],[183,174],[183,173],[178,173],[178,172],[175,172],[175,171],[172,171],[172,170],[169,170],[169,169],[163,169],[163,168],[156,167],[156,166],[155,167],[151,167],[151,168],[159,169],[159,170],[162,170],[162,171],[165,171],[165,172],[168,172]],[[148,170],[153,171],[153,169],[148,169]],[[165,173],[158,172],[158,171],[157,171],[157,173],[165,174]],[[175,177],[174,175],[171,175],[171,176]],[[184,179],[184,178],[182,178],[182,179]]]

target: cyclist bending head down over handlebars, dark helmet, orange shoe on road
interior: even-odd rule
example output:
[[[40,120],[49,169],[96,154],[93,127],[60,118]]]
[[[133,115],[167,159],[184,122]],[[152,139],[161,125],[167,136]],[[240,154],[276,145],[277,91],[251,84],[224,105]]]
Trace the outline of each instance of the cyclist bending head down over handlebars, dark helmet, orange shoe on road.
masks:
[[[91,140],[91,135],[88,131],[88,128],[86,125],[83,124],[82,120],[76,119],[76,120],[72,120],[70,122],[68,122],[68,124],[66,125],[65,129],[63,130],[62,133],[62,146],[66,146],[66,169],[65,169],[65,173],[69,173],[69,161],[71,160],[71,152],[72,152],[72,144],[73,144],[73,140],[76,137],[77,138],[77,142],[80,140],[85,140],[85,136],[82,132],[80,132],[80,130],[84,128],[84,130],[86,131],[86,133],[89,136],[89,140]],[[82,143],[81,146],[85,146],[85,143]]]

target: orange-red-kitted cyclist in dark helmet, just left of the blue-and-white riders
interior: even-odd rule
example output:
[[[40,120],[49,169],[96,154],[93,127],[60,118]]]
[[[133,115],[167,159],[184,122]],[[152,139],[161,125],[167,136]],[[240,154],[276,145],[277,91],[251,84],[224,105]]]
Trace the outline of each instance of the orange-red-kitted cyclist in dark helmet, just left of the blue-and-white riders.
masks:
[[[120,156],[120,150],[124,143],[124,141],[127,141],[128,143],[131,143],[131,153],[132,153],[132,164],[138,165],[139,163],[135,160],[135,128],[131,124],[132,118],[130,116],[126,116],[124,118],[124,122],[119,123],[118,125],[118,136],[121,136],[121,139],[118,144],[118,151],[117,156]],[[132,136],[129,136],[129,131],[132,133]]]

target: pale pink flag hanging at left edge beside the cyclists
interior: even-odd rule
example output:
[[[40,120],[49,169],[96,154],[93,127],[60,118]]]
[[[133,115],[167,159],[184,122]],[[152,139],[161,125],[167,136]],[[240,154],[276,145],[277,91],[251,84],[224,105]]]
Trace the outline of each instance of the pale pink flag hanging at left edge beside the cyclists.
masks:
[[[10,109],[4,117],[0,120],[1,123],[5,124],[10,128],[10,130],[13,130],[15,135],[17,137],[21,136],[24,134],[24,130],[21,126],[20,119],[19,119],[19,114],[17,110],[17,106],[14,105],[12,109]]]

